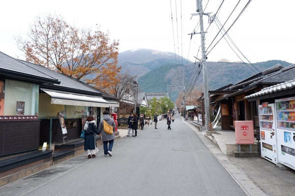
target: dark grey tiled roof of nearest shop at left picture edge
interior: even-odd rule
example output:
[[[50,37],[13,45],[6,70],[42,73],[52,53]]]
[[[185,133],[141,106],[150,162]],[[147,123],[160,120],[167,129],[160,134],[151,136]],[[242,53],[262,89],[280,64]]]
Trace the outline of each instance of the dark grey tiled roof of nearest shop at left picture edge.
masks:
[[[46,73],[42,73],[25,63],[21,62],[20,60],[17,60],[11,56],[8,56],[7,54],[4,54],[3,52],[0,52],[0,69],[11,71],[11,72],[18,72],[23,73],[31,76],[40,77],[41,79],[50,79],[57,81],[57,78],[52,77]]]

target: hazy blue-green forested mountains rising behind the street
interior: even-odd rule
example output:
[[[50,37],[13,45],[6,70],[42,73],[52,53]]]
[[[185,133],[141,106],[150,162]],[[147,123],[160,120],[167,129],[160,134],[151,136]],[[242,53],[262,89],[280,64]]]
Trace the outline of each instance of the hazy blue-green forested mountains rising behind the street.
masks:
[[[179,83],[180,67],[186,65],[185,86],[192,83],[198,70],[198,63],[194,64],[185,58],[179,57],[180,61],[182,60],[182,65],[180,65],[180,61],[179,64],[176,64],[176,57],[178,60],[178,56],[173,52],[152,49],[127,50],[118,54],[118,65],[122,67],[122,73],[129,72],[131,75],[137,75],[141,91],[147,93],[165,92],[168,85],[173,85],[173,87],[170,87],[170,96],[175,101],[178,92],[181,90],[179,86],[182,85]],[[282,66],[290,65],[290,63],[281,60],[254,63],[254,67],[250,64],[231,62],[227,59],[221,59],[218,62],[207,62],[209,89],[214,90],[229,83],[234,84],[257,73],[258,70],[266,70],[277,63]],[[202,72],[196,80],[196,86],[201,85],[203,85]]]

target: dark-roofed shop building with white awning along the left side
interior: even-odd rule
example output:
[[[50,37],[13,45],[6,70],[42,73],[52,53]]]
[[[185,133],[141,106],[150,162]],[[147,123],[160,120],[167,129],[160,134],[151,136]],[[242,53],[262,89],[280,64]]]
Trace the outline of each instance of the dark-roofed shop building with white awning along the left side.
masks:
[[[79,138],[83,118],[99,123],[104,110],[119,106],[86,83],[2,52],[0,77],[0,156],[63,141],[59,112],[71,140]]]

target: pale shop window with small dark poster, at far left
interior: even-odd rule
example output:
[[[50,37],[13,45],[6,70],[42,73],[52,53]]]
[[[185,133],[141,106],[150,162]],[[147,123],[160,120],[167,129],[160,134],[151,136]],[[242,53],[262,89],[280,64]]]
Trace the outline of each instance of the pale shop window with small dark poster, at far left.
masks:
[[[38,84],[6,79],[4,89],[4,116],[38,115]]]

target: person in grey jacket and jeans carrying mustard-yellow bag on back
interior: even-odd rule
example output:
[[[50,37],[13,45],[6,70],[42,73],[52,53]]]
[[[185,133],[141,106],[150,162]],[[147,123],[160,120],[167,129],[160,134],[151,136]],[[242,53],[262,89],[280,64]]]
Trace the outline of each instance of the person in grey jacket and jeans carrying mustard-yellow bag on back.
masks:
[[[99,123],[98,132],[102,134],[104,156],[113,156],[112,148],[115,140],[115,121],[110,117],[109,111],[104,111],[103,118]],[[109,144],[109,146],[108,146]]]

